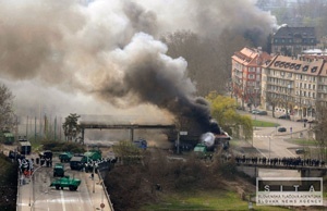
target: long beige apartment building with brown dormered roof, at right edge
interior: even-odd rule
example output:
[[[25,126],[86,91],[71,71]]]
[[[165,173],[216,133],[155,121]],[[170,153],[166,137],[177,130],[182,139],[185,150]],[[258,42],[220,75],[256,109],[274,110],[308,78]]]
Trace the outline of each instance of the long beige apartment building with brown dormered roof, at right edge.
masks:
[[[263,65],[261,103],[294,117],[314,119],[316,103],[327,104],[327,58],[276,55]]]

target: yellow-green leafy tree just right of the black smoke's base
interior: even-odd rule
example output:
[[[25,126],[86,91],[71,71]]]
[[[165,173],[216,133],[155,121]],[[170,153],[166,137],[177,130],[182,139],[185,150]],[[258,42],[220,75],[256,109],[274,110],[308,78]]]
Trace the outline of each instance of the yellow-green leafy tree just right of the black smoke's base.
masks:
[[[210,102],[211,116],[216,119],[225,131],[234,129],[239,133],[239,128],[243,128],[243,135],[246,140],[253,137],[253,125],[250,116],[241,115],[237,112],[237,102],[234,99],[226,96],[210,92],[206,99]],[[239,134],[232,134],[239,136]]]

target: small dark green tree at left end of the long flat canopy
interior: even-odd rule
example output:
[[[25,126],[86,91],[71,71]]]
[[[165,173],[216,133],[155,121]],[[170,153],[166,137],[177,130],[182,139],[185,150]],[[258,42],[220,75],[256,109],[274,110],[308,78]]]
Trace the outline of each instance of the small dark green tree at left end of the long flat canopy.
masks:
[[[62,124],[63,133],[68,141],[72,141],[73,139],[75,139],[75,141],[77,140],[76,136],[81,132],[81,127],[77,123],[78,117],[81,116],[76,113],[71,113],[69,116],[65,117],[65,121]]]

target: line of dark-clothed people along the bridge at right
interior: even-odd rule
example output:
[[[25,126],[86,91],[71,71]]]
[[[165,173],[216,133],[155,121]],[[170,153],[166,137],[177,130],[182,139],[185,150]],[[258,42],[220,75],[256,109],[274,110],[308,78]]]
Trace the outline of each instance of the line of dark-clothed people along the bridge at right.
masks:
[[[283,165],[283,166],[324,166],[325,161],[318,159],[295,158],[266,158],[266,157],[235,157],[237,163],[261,164],[261,165]]]

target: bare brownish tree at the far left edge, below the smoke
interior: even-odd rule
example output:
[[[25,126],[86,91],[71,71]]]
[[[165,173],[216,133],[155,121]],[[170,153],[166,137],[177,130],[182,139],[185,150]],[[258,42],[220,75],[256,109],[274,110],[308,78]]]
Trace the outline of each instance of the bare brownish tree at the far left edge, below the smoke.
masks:
[[[0,128],[12,131],[16,125],[16,117],[13,112],[13,99],[11,90],[5,85],[0,85]]]

